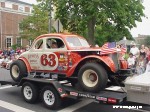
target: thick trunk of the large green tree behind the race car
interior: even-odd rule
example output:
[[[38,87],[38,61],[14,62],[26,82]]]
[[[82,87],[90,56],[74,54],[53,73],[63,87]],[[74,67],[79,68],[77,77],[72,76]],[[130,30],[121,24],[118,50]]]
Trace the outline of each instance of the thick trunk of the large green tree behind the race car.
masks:
[[[95,45],[95,38],[94,38],[95,22],[96,22],[95,17],[92,17],[88,21],[88,41],[92,46]]]

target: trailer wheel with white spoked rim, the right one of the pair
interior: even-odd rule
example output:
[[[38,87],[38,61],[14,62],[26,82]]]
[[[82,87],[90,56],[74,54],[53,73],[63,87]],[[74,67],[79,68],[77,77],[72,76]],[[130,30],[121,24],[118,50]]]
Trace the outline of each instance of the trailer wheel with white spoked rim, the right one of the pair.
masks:
[[[42,90],[43,104],[49,109],[58,109],[61,106],[61,97],[59,93],[50,86],[45,86]]]

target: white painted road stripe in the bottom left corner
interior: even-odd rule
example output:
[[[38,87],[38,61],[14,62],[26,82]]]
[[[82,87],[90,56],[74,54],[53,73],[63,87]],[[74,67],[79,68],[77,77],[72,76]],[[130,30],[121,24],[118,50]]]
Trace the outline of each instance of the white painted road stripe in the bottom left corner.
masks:
[[[17,105],[14,105],[14,104],[2,101],[2,100],[0,100],[0,106],[6,109],[12,110],[14,112],[35,112],[35,111],[29,110],[29,109],[26,109],[26,108],[23,108],[23,107],[20,107],[20,106],[17,106]]]

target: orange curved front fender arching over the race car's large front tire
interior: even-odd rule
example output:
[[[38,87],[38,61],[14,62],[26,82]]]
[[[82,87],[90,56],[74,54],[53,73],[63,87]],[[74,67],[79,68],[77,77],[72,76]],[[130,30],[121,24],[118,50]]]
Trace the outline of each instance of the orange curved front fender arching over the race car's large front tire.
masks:
[[[112,72],[115,72],[116,71],[116,68],[115,68],[115,64],[114,64],[114,62],[113,62],[113,60],[109,57],[109,56],[96,56],[96,55],[89,55],[89,56],[86,56],[86,57],[84,57],[84,58],[82,58],[82,59],[80,59],[76,64],[74,64],[73,66],[72,66],[72,68],[67,72],[67,76],[69,77],[69,76],[71,76],[73,73],[74,73],[74,71],[75,71],[75,69],[76,69],[76,67],[81,63],[81,62],[83,62],[84,60],[86,60],[86,59],[97,59],[98,61],[102,61],[104,64],[106,64],[109,68],[110,68],[110,70],[112,71]]]

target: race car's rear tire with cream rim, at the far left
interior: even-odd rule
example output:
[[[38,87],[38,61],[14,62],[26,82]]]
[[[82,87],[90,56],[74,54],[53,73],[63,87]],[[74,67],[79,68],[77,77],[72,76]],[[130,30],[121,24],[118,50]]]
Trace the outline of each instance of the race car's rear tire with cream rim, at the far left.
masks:
[[[10,66],[10,75],[15,82],[27,76],[27,68],[23,61],[16,60]]]

